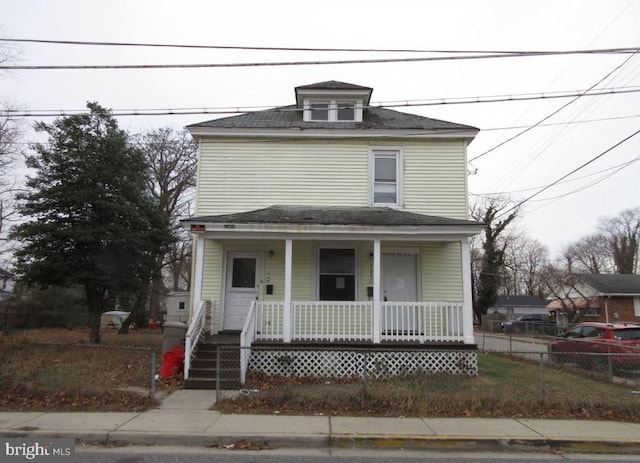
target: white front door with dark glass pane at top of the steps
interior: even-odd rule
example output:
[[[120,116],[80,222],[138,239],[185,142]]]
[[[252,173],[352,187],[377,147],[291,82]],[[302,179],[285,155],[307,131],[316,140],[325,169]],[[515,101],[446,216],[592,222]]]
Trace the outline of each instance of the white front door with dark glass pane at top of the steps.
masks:
[[[260,297],[260,254],[229,252],[223,329],[241,331],[251,303]]]

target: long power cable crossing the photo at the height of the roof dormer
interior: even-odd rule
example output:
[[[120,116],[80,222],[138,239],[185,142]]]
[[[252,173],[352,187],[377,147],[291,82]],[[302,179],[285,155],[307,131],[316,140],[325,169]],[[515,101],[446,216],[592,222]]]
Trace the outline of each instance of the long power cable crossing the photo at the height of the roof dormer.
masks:
[[[588,93],[586,93],[588,92]],[[639,93],[639,86],[632,87],[612,87],[603,88],[595,91],[574,90],[565,92],[550,93],[524,93],[514,95],[493,95],[493,96],[477,96],[477,97],[454,97],[454,98],[435,98],[426,100],[405,100],[397,103],[371,104],[362,106],[362,109],[369,108],[401,108],[401,107],[420,107],[420,106],[442,106],[442,105],[459,105],[459,104],[476,104],[476,103],[505,103],[513,101],[527,100],[552,100],[558,98],[571,98],[575,96],[601,96],[601,95],[618,95],[627,93]],[[161,109],[112,109],[114,116],[189,116],[196,114],[208,115],[229,115],[229,114],[246,114],[253,111],[259,111],[260,108],[271,109],[280,112],[299,112],[301,108],[291,107],[267,107],[267,106],[232,106],[222,108],[161,108]],[[360,108],[360,107],[359,107]],[[64,117],[76,114],[86,114],[87,110],[71,110],[71,109],[32,109],[32,110],[4,110],[0,114],[15,117]],[[537,124],[540,125],[540,124]],[[529,127],[529,126],[527,126]],[[477,159],[476,156],[473,159]],[[473,160],[471,159],[471,161]]]

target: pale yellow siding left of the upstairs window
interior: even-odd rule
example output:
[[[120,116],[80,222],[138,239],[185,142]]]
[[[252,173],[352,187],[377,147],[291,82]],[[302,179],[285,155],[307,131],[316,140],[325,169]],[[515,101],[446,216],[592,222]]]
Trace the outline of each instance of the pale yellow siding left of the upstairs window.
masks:
[[[362,206],[368,148],[356,142],[205,142],[196,215],[273,204]]]

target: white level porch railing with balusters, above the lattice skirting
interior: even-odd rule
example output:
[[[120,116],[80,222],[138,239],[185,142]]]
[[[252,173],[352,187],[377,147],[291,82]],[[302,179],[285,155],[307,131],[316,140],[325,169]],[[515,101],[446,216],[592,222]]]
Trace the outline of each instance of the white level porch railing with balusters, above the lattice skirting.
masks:
[[[284,338],[283,320],[284,302],[255,301],[247,317],[243,336],[251,336],[252,341],[281,341]],[[291,303],[293,341],[371,341],[372,326],[372,302]],[[464,342],[462,303],[383,302],[381,340]],[[249,343],[246,347],[250,345]]]

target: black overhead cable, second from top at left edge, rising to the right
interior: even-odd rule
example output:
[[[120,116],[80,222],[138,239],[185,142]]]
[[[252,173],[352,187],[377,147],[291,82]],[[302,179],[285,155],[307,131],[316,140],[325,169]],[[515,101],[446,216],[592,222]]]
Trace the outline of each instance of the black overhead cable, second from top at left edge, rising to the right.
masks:
[[[272,61],[253,63],[188,63],[188,64],[73,64],[73,65],[4,65],[0,70],[89,70],[89,69],[203,69],[203,68],[238,68],[238,67],[277,67],[277,66],[324,66],[335,64],[382,64],[413,63],[429,61],[460,61],[499,58],[525,58],[537,56],[559,56],[575,54],[633,54],[640,48],[610,48],[604,50],[569,50],[544,52],[512,52],[488,54],[464,54],[457,56],[423,56],[414,58],[377,58],[377,59],[344,59],[326,61]]]

